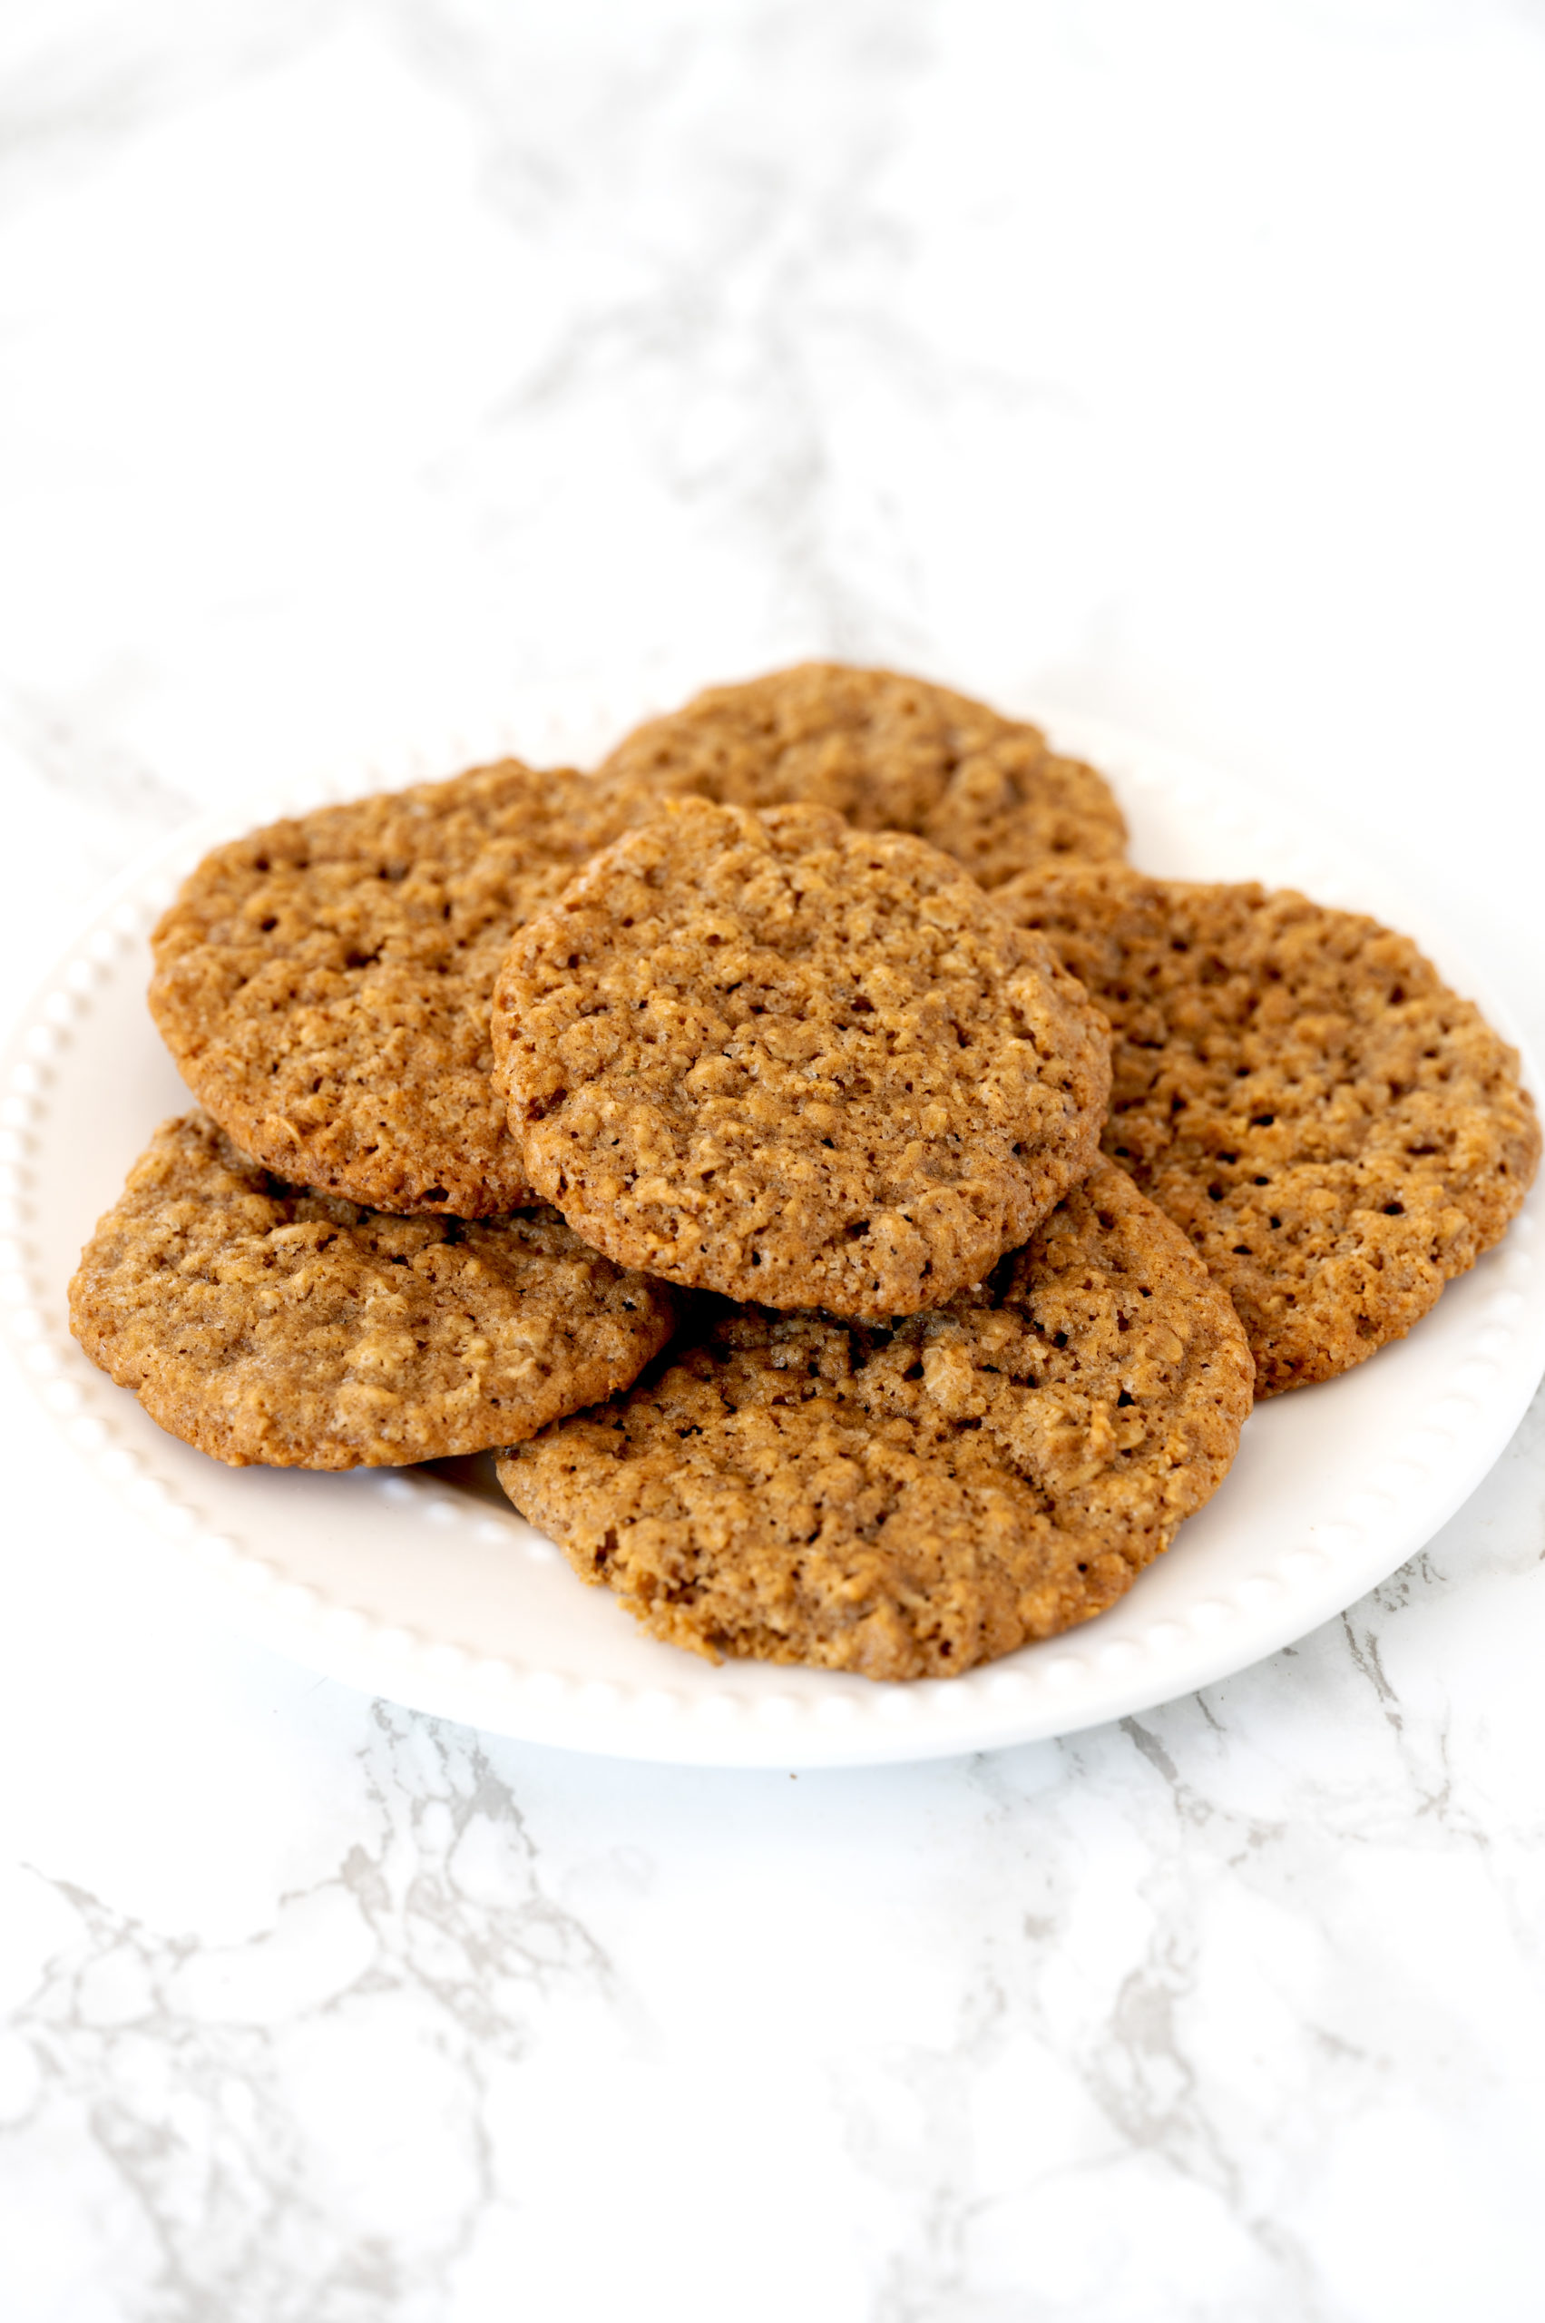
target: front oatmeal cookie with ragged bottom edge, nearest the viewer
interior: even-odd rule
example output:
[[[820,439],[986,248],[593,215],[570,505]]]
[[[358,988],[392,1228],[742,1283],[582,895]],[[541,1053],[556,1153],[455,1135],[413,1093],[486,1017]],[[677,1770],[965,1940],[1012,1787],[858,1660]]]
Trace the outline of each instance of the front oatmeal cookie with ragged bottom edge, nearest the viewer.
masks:
[[[1099,1166],[946,1308],[720,1310],[500,1482],[671,1645],[957,1677],[1122,1596],[1222,1482],[1250,1394],[1234,1308]]]

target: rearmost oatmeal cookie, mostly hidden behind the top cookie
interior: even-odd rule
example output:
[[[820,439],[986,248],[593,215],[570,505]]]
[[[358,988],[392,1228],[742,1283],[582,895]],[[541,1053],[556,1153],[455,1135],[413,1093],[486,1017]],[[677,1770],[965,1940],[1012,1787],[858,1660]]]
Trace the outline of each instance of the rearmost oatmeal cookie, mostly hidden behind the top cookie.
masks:
[[[720,806],[832,806],[929,839],[983,887],[1045,857],[1120,857],[1122,811],[1039,727],[890,669],[802,662],[716,685],[630,734],[597,781]],[[630,806],[630,818],[637,813]]]

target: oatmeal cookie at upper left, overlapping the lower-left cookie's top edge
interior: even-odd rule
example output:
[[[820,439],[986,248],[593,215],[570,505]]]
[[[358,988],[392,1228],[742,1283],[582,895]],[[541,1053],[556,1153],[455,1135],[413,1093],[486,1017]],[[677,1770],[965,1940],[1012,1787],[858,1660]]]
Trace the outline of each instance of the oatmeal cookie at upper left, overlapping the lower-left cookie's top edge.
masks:
[[[488,1083],[488,994],[613,827],[583,776],[506,760],[251,832],[156,929],[151,1015],[286,1178],[381,1210],[509,1210],[530,1187]]]

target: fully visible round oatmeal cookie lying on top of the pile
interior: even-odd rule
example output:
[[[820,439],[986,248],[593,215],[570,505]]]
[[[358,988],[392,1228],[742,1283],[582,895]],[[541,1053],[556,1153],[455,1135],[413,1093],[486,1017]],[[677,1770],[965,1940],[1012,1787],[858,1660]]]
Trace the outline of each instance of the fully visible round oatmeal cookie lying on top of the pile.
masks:
[[[948,855],[669,801],[513,941],[495,1066],[537,1192],[620,1266],[904,1315],[1090,1168],[1106,1024]]]

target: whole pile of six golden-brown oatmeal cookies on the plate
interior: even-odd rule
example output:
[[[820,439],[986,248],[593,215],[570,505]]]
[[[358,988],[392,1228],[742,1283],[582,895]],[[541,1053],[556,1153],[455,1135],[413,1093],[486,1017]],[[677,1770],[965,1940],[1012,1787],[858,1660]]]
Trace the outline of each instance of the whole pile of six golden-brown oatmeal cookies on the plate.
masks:
[[[218,848],[151,1011],[204,1110],[72,1326],[153,1419],[497,1447],[655,1635],[871,1677],[1111,1605],[1540,1150],[1403,936],[1143,878],[1034,727],[834,664]]]

